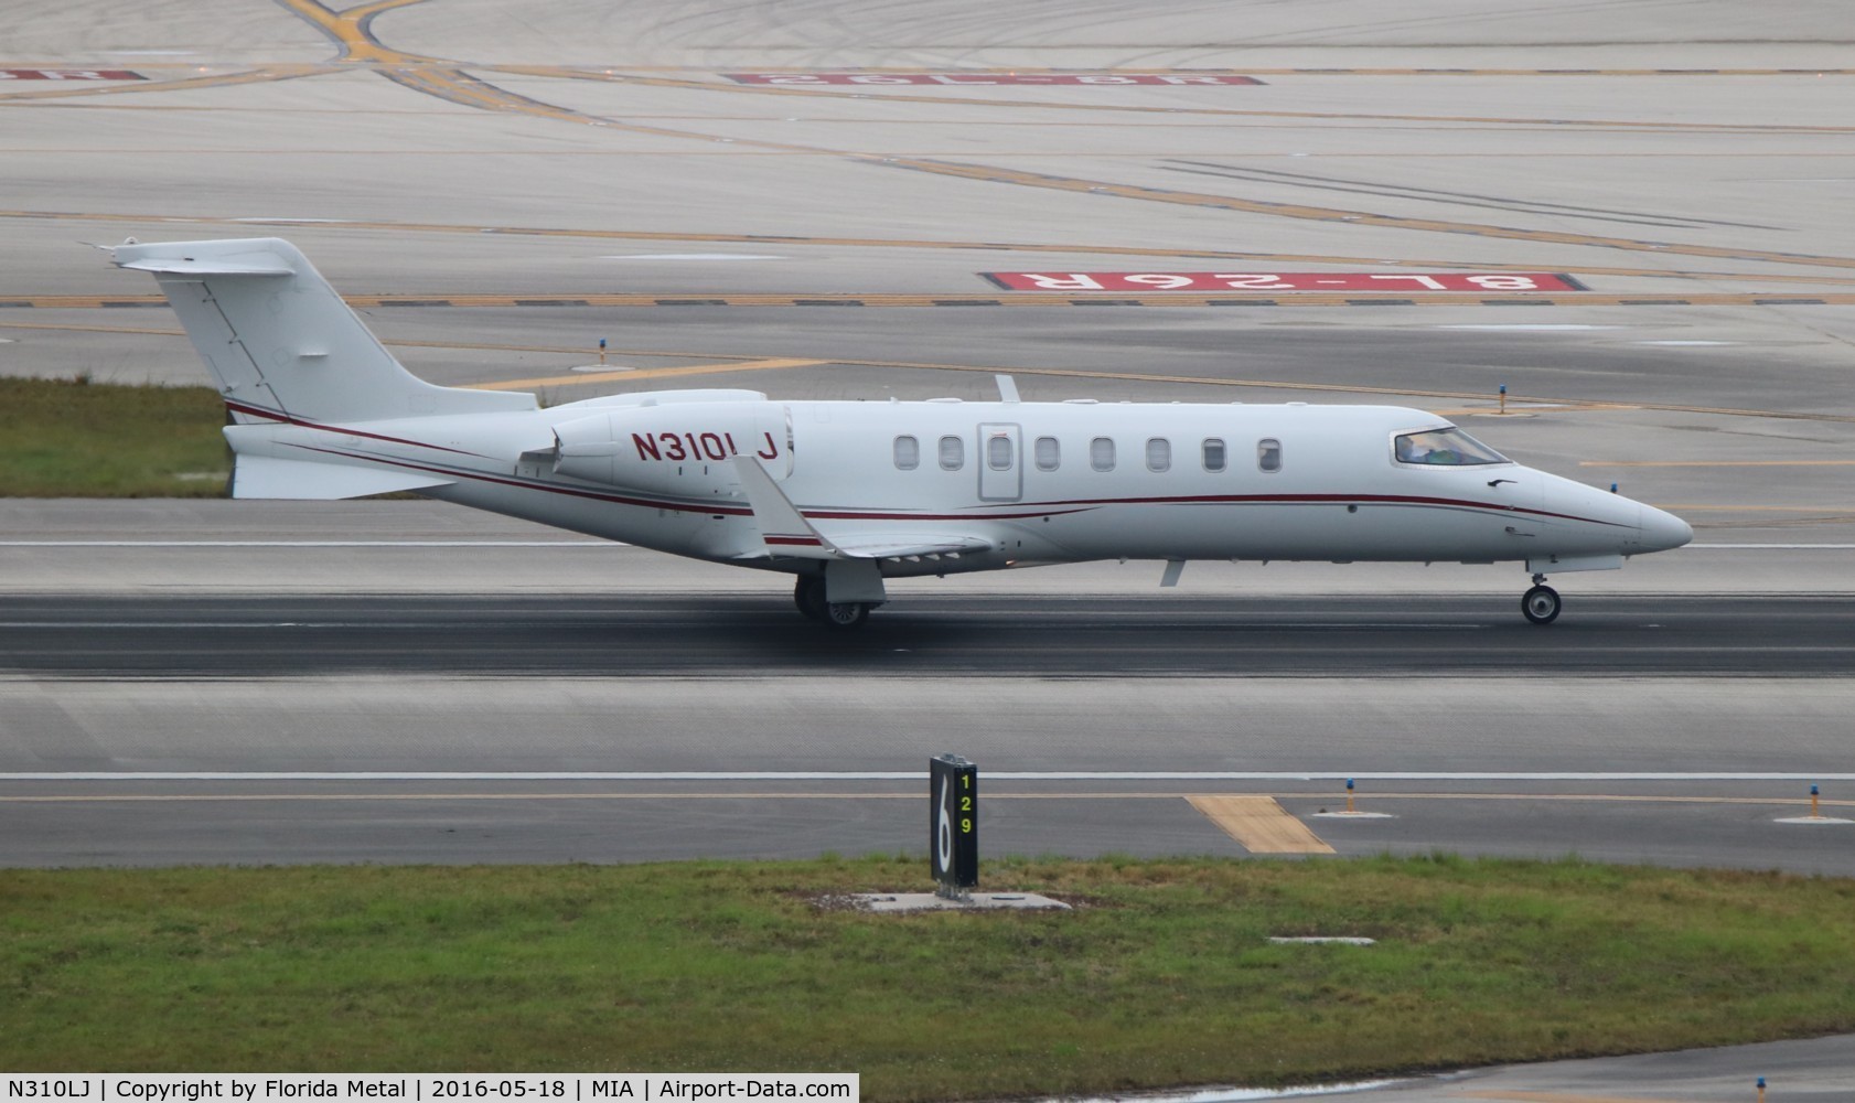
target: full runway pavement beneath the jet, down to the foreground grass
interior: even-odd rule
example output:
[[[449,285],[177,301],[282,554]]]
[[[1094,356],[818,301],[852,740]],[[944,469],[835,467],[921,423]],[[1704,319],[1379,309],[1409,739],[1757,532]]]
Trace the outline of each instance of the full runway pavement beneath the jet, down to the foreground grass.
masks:
[[[1567,575],[1547,628],[1488,569],[1104,564],[844,634],[781,577],[438,504],[0,519],[6,864],[913,853],[955,751],[991,855],[1274,853],[1193,803],[1239,795],[1289,855],[1855,873],[1835,543]],[[1321,818],[1345,779],[1388,818]]]

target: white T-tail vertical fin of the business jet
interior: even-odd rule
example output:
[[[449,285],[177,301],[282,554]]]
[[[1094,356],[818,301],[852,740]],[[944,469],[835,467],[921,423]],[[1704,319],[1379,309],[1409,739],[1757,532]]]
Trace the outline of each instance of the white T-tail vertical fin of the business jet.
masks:
[[[378,421],[534,410],[532,395],[436,387],[408,373],[278,237],[134,239],[117,267],[152,273],[236,421]]]

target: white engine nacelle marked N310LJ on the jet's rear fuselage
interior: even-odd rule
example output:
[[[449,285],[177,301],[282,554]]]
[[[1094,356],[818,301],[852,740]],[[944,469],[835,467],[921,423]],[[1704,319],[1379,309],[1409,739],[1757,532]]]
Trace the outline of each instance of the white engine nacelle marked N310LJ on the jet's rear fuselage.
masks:
[[[735,456],[757,458],[774,478],[792,473],[787,408],[775,402],[621,406],[553,430],[555,473],[607,486],[735,495]]]

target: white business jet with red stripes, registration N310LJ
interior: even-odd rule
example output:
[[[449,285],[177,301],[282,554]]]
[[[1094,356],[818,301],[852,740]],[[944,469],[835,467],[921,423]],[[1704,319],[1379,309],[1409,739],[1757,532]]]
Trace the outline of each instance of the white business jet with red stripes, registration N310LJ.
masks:
[[[219,382],[232,497],[419,495],[798,577],[861,625],[885,578],[1083,560],[1517,560],[1547,571],[1688,543],[1679,517],[1521,467],[1397,406],[777,402],[649,391],[538,408],[399,365],[288,241],[109,250],[154,273]]]

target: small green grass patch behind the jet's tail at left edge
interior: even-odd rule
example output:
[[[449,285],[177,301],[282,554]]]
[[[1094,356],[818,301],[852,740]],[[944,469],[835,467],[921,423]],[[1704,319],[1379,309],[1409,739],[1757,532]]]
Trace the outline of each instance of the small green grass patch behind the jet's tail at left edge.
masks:
[[[221,497],[211,387],[0,378],[0,497]]]

